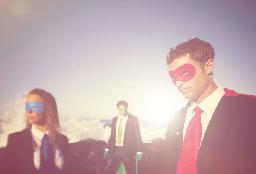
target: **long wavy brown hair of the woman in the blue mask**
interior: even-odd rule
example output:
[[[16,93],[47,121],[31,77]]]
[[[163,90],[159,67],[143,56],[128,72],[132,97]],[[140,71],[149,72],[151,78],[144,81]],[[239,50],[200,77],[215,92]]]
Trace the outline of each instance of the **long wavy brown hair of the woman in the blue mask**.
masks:
[[[44,99],[44,113],[46,115],[46,124],[47,129],[49,131],[49,141],[53,143],[55,146],[59,146],[60,144],[60,123],[59,123],[59,115],[57,109],[57,103],[52,94],[48,93],[45,90],[35,88],[29,92],[30,94],[36,94],[41,96]],[[31,129],[31,124],[26,122],[26,127]]]

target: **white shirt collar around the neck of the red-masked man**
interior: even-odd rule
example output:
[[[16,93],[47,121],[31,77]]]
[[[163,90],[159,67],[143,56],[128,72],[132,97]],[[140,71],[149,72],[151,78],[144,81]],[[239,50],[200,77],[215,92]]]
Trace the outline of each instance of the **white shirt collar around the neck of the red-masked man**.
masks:
[[[218,88],[211,95],[205,98],[199,105],[197,105],[194,101],[191,101],[191,109],[193,110],[196,106],[199,106],[204,113],[210,115],[212,109],[216,106],[216,104],[218,104],[224,94],[225,91],[218,86]]]

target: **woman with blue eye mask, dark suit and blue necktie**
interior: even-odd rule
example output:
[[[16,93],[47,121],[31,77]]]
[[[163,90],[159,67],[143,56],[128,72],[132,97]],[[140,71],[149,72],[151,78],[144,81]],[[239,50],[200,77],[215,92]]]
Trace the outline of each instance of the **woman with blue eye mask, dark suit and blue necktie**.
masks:
[[[55,98],[45,90],[31,90],[26,98],[26,129],[8,137],[4,173],[69,174],[69,153]]]

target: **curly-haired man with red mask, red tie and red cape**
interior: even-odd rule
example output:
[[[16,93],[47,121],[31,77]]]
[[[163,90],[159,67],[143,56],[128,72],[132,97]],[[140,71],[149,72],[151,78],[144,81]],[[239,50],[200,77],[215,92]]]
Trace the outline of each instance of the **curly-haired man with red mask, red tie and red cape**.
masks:
[[[169,75],[189,102],[169,121],[164,174],[256,174],[256,97],[217,86],[214,55],[198,38],[167,55]]]

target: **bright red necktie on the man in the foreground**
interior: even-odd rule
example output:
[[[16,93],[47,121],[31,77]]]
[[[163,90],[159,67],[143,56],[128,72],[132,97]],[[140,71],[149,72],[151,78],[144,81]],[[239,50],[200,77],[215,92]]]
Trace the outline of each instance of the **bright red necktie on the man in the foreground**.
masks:
[[[180,153],[176,174],[196,174],[196,160],[202,138],[200,107],[195,107],[195,116],[189,122]]]

